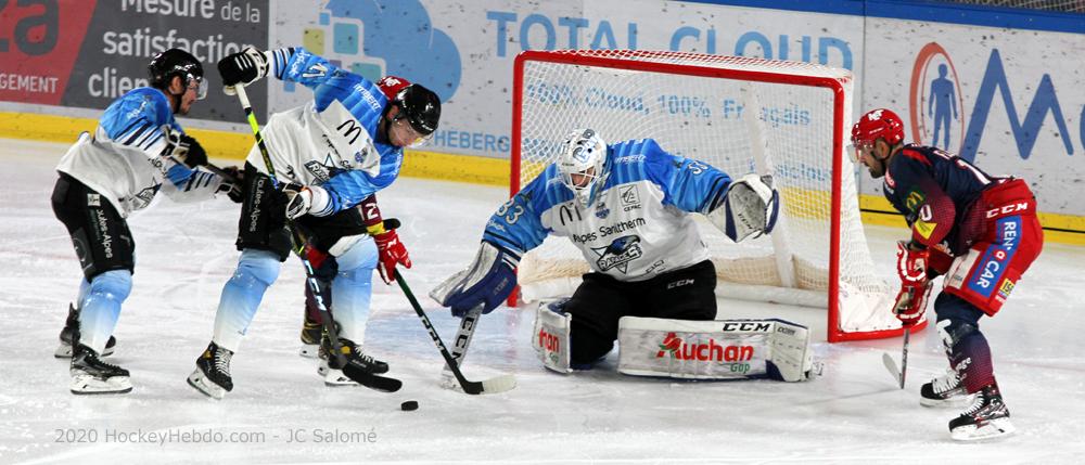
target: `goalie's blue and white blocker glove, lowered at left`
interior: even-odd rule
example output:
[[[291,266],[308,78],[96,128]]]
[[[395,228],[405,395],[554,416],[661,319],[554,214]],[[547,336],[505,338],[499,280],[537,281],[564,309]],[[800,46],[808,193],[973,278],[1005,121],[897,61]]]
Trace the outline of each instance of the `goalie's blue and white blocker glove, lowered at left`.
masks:
[[[430,297],[449,307],[454,317],[462,318],[480,305],[489,313],[512,294],[518,264],[520,257],[483,241],[471,266],[441,283]]]

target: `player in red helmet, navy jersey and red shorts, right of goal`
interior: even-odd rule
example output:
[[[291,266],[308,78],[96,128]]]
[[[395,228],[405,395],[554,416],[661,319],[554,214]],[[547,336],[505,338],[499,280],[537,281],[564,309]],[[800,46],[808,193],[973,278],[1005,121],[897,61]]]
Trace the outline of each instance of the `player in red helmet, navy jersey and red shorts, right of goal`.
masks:
[[[949,422],[954,439],[1013,432],[979,322],[1001,309],[1043,247],[1032,191],[1021,179],[992,177],[941,148],[905,144],[904,125],[889,109],[863,115],[852,144],[911,228],[910,241],[898,245],[902,288],[893,308],[906,327],[922,319],[932,280],[945,275],[934,312],[949,370],[923,385],[920,403],[947,405],[974,395]]]

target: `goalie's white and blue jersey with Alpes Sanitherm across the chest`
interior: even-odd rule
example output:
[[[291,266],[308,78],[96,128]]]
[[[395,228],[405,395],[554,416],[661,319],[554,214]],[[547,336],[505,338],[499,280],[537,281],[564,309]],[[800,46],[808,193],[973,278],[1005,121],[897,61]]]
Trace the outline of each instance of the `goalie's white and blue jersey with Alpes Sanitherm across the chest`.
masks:
[[[522,256],[547,234],[569,237],[591,269],[643,281],[709,258],[691,212],[707,214],[731,178],[651,139],[607,148],[609,175],[586,209],[551,164],[490,217],[483,241]]]

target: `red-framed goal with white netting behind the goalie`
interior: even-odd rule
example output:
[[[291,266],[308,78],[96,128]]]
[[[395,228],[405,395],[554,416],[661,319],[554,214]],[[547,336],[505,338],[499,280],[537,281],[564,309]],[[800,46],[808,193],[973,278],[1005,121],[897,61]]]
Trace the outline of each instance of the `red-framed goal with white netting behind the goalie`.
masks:
[[[844,154],[852,75],[808,63],[633,50],[528,51],[515,61],[511,192],[542,171],[575,128],[608,142],[652,138],[738,178],[771,173],[776,231],[735,244],[699,222],[724,297],[828,308],[829,341],[901,325],[877,277]],[[521,298],[567,296],[588,266],[563,237],[521,261]],[[724,317],[726,309],[722,308]]]

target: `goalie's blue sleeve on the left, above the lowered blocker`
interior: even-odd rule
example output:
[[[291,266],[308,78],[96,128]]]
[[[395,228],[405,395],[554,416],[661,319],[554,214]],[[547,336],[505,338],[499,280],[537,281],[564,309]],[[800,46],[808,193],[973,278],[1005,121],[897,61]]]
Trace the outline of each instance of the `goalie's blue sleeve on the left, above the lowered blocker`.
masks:
[[[482,240],[518,258],[542,244],[550,233],[542,227],[542,209],[539,208],[545,198],[546,179],[545,173],[538,176],[501,205],[486,222]]]

